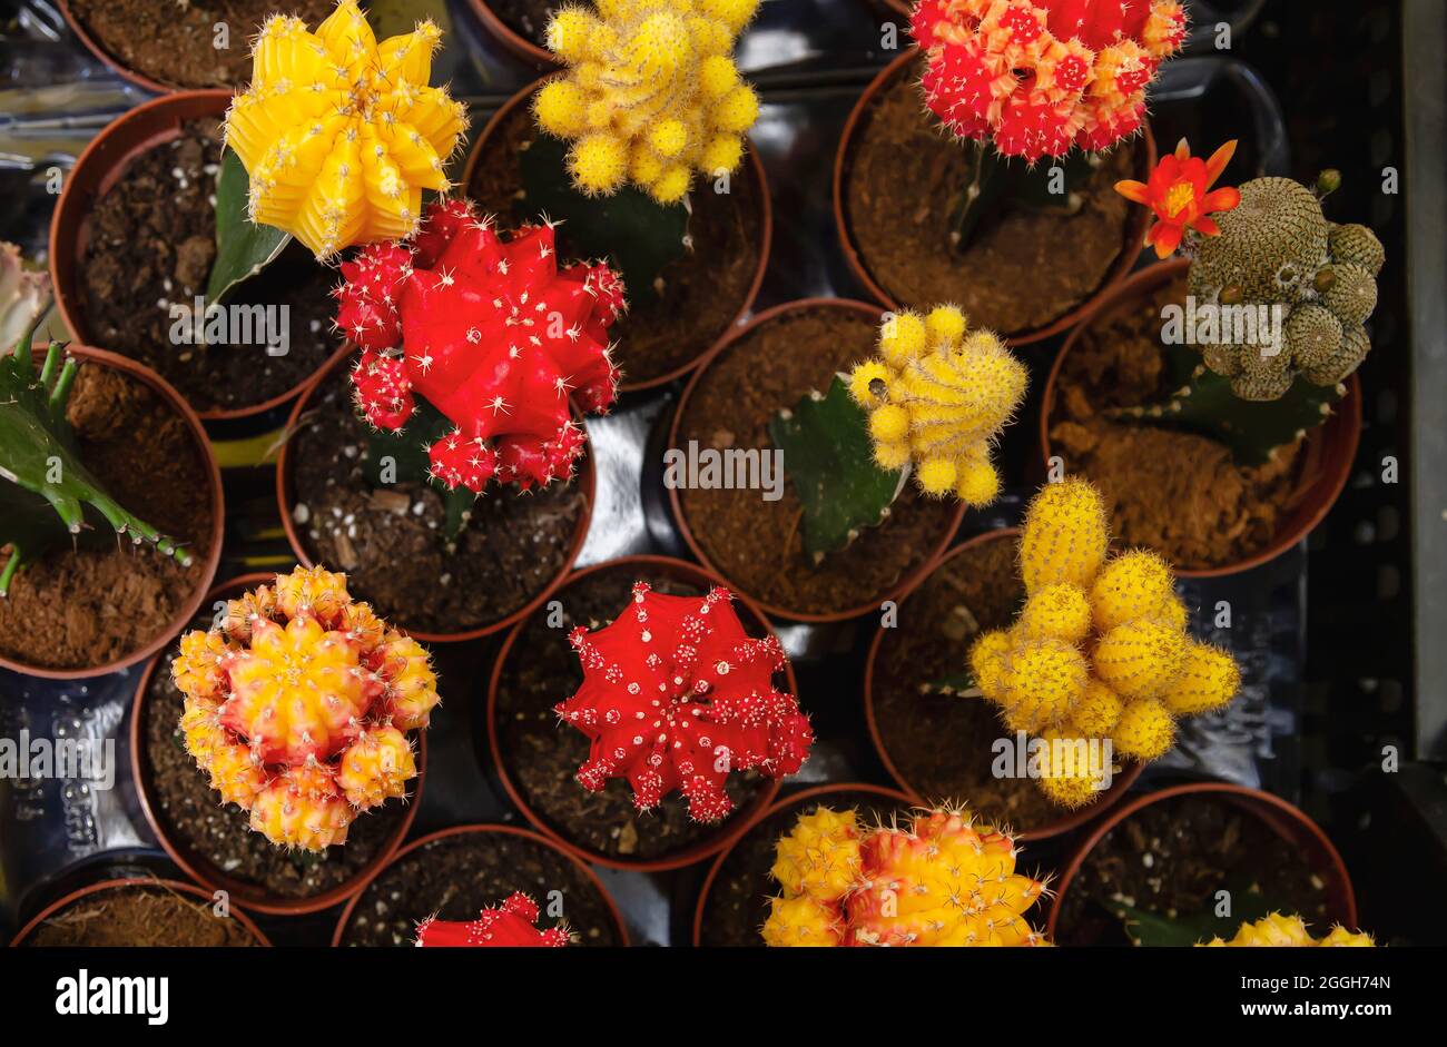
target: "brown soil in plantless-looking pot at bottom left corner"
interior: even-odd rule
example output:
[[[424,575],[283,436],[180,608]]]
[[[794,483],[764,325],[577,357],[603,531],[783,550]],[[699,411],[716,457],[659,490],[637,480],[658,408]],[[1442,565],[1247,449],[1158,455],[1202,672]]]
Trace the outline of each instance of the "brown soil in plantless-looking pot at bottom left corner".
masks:
[[[117,886],[67,905],[25,940],[32,947],[246,947],[258,944],[237,920],[218,917],[211,901],[164,885]]]

